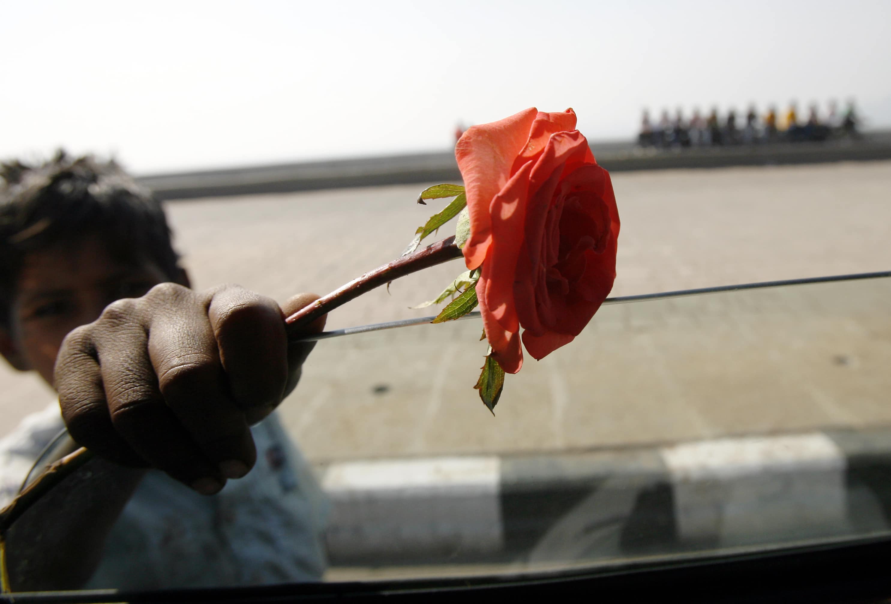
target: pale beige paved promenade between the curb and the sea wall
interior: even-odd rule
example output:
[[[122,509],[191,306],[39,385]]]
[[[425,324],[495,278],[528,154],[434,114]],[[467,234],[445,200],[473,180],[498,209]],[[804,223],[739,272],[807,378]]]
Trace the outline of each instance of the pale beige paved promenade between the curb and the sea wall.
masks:
[[[891,269],[891,162],[614,176],[615,296]],[[168,204],[198,288],[323,294],[396,257],[422,185]],[[449,233],[444,233],[449,234]],[[460,262],[331,314],[331,328],[430,314]],[[855,293],[854,293],[855,292]],[[282,404],[318,461],[546,451],[891,423],[887,282],[610,306],[573,346],[509,376],[493,418],[472,384],[478,322],[319,343]],[[52,399],[0,369],[0,434]]]

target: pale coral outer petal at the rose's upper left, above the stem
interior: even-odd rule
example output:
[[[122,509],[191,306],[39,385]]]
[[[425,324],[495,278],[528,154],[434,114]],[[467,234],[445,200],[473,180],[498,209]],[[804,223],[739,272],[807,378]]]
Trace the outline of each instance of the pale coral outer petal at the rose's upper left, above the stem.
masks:
[[[470,239],[464,244],[464,262],[476,268],[492,243],[489,207],[511,178],[511,167],[527,145],[529,129],[538,110],[531,107],[510,118],[471,126],[454,148],[458,169],[467,190]]]

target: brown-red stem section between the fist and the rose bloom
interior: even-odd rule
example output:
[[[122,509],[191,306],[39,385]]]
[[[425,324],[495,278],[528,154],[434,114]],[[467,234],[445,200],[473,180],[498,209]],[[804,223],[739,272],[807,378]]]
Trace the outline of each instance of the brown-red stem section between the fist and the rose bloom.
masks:
[[[448,260],[460,257],[462,257],[462,251],[454,244],[454,237],[448,237],[413,253],[411,256],[396,258],[393,262],[364,273],[358,279],[348,282],[327,296],[315,300],[313,304],[304,306],[296,313],[291,314],[284,321],[287,324],[288,333],[292,337],[297,337],[301,327],[338,306],[346,304],[353,298],[358,298],[366,291],[371,291],[399,277],[405,277],[406,274],[416,273],[430,266],[441,265]]]

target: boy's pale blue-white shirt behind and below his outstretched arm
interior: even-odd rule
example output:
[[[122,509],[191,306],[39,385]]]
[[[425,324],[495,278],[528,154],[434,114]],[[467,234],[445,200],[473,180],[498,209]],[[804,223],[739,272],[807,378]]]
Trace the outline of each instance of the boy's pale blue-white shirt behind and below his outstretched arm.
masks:
[[[59,407],[0,439],[0,504],[63,428]],[[85,589],[150,590],[319,581],[327,511],[307,462],[275,413],[251,429],[257,464],[217,495],[151,470],[111,528]]]

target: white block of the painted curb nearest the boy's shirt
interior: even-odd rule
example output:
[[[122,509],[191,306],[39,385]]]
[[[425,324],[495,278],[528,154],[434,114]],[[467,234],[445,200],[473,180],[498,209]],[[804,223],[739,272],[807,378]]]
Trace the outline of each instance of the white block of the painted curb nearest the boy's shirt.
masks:
[[[322,480],[331,558],[499,551],[500,478],[497,457],[333,464]]]

